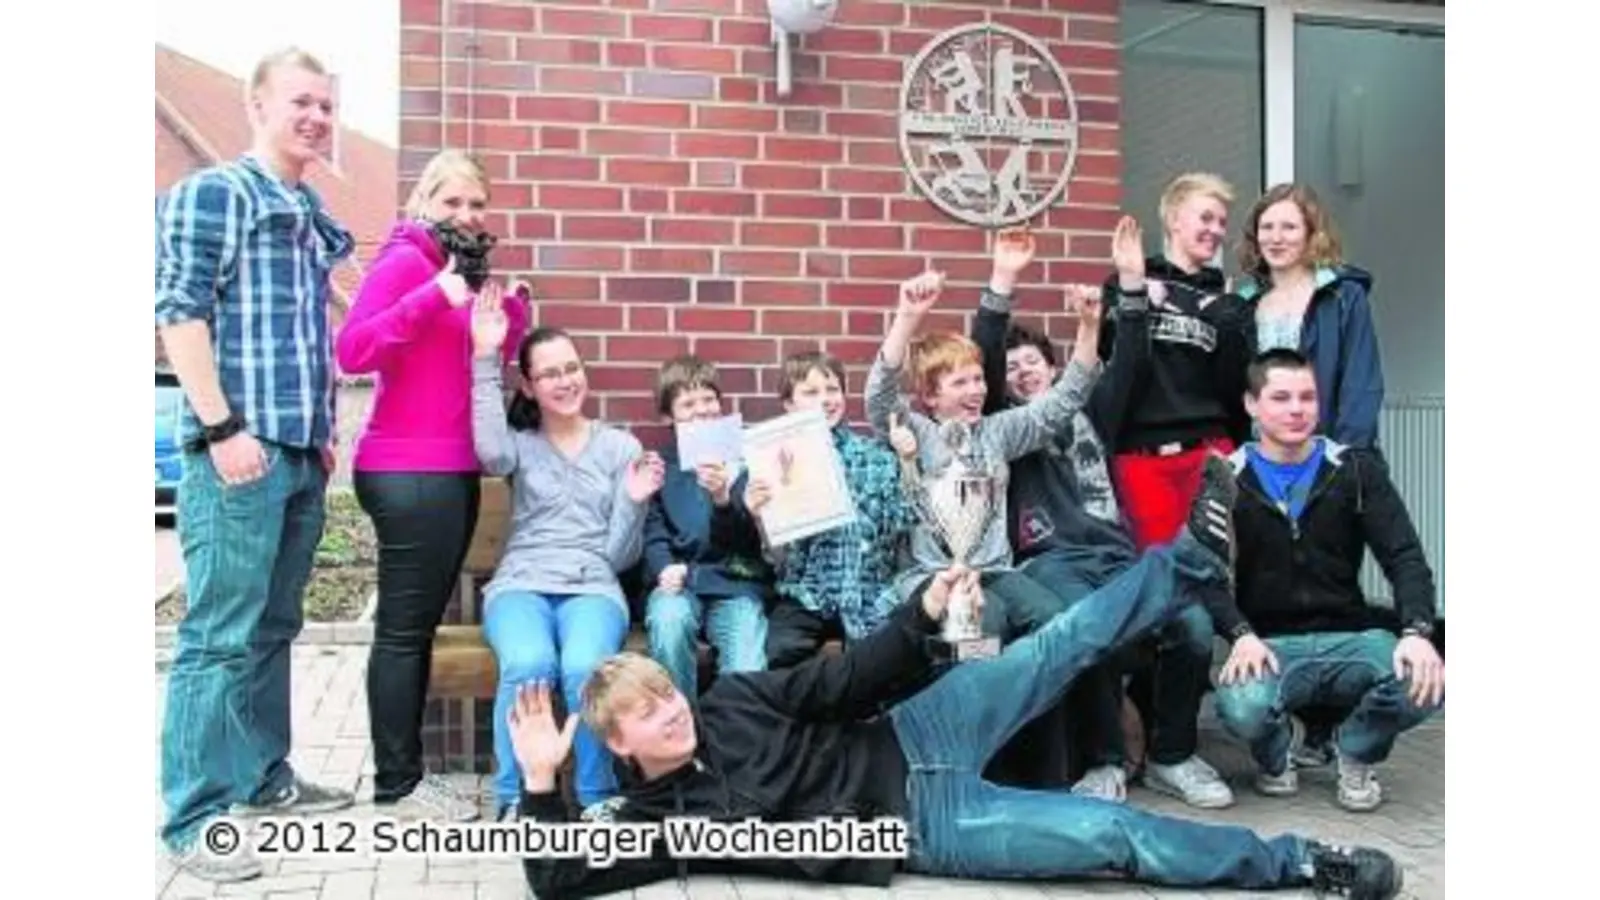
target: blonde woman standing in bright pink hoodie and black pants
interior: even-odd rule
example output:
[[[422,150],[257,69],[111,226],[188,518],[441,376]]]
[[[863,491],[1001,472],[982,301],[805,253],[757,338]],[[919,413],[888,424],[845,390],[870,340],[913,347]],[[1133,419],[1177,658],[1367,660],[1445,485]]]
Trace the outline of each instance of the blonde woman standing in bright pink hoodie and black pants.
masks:
[[[422,770],[430,647],[478,516],[472,447],[474,266],[458,266],[440,226],[483,234],[490,184],[459,151],[435,155],[362,282],[339,331],[339,368],[374,373],[355,447],[355,496],[378,532],[378,615],[366,666],[376,780],[386,815],[467,822],[477,802]],[[461,271],[458,271],[458,267]],[[462,277],[462,275],[467,277]],[[486,296],[499,285],[482,283]],[[502,295],[510,362],[528,328],[526,291]]]

